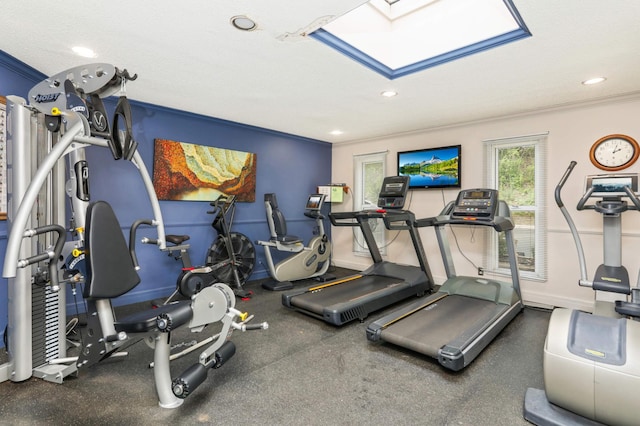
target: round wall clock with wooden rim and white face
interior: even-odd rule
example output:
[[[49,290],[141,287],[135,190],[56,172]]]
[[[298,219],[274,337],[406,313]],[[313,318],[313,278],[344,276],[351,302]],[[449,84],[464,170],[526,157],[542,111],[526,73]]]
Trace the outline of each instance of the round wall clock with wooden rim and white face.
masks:
[[[640,146],[631,136],[608,135],[595,141],[589,158],[594,166],[608,172],[626,169],[636,162]]]

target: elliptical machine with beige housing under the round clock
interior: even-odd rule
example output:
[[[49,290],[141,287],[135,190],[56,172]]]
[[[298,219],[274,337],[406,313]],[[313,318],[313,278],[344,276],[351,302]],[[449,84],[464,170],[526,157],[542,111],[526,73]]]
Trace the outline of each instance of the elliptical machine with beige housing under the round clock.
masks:
[[[588,281],[580,236],[560,197],[575,165],[572,161],[562,176],[555,199],[578,251],[579,285],[624,294],[625,299],[631,294],[631,302],[596,300],[593,314],[564,308],[553,311],[544,348],[545,390],[527,389],[524,418],[537,425],[637,425],[640,287],[631,288],[629,274],[621,264],[621,215],[628,210],[640,211],[638,175],[592,175],[586,179],[587,190],[577,209],[602,214],[604,243],[604,263],[593,281]],[[592,198],[599,200],[587,204]]]

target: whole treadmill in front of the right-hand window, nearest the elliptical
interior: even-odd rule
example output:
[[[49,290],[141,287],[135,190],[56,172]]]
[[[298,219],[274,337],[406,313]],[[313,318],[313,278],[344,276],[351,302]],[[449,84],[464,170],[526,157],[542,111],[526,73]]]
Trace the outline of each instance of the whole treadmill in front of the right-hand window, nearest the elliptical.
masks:
[[[447,239],[447,225],[485,226],[504,233],[510,282],[457,276]],[[496,190],[463,190],[439,216],[420,219],[416,226],[434,227],[447,280],[428,298],[371,323],[367,327],[367,339],[385,341],[437,358],[443,367],[459,371],[523,309],[509,207],[498,199]]]

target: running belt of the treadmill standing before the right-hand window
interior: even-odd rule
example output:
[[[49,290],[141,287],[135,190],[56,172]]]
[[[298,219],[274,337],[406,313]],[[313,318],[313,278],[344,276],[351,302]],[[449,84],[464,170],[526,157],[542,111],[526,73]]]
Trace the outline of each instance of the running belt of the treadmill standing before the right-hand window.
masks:
[[[380,337],[437,358],[441,347],[452,341],[468,342],[507,308],[488,300],[450,295],[384,328]]]

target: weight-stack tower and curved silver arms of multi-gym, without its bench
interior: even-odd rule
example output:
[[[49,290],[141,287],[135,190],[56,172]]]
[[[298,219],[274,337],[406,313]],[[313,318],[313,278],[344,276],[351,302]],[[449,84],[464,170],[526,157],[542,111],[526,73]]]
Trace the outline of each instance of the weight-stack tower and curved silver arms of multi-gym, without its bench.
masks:
[[[93,64],[45,79],[29,91],[28,102],[18,96],[7,96],[10,235],[3,276],[9,282],[5,331],[9,362],[0,366],[0,380],[23,381],[33,375],[60,383],[75,373],[74,366],[51,363],[66,357],[66,286],[58,285],[54,269],[46,265],[56,263],[50,262],[54,258],[51,248],[55,240],[43,229],[53,225],[67,227],[68,196],[72,211],[68,222],[74,241],[64,244],[62,255],[67,256],[82,245],[84,212],[89,201],[85,147],[107,147],[114,158],[122,158],[126,153],[140,171],[150,197],[155,196],[135,146],[131,142],[122,143],[132,140],[130,126],[120,131],[120,119],[114,116],[112,133],[101,100],[122,91],[125,82],[132,79],[135,76],[126,70]],[[122,106],[128,105],[126,96],[120,96],[118,103],[120,109],[126,109]],[[130,123],[130,116],[125,121]],[[157,200],[155,204],[151,201],[154,216],[162,224],[159,204]],[[29,237],[24,243],[23,231],[25,238]],[[158,231],[164,241],[164,226],[158,227]],[[35,257],[47,252],[49,259],[42,255]],[[76,259],[76,263],[82,263],[82,258]],[[77,277],[65,278],[75,285]]]

